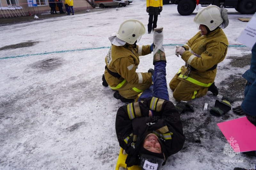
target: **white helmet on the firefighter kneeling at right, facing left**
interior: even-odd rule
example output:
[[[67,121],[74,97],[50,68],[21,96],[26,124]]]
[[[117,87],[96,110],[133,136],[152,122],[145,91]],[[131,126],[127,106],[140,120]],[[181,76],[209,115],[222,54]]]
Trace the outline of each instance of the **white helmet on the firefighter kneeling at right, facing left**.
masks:
[[[223,22],[223,19],[221,18],[219,7],[209,5],[196,14],[194,22],[196,24],[205,25],[212,31]]]

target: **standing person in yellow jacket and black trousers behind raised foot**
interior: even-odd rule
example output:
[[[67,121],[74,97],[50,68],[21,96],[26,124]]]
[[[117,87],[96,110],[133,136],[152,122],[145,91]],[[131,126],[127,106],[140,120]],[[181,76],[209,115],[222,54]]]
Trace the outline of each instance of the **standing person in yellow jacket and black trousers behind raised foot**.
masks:
[[[146,1],[148,18],[148,33],[151,33],[156,28],[157,17],[163,10],[163,0],[147,0]],[[153,20],[154,19],[154,20]]]

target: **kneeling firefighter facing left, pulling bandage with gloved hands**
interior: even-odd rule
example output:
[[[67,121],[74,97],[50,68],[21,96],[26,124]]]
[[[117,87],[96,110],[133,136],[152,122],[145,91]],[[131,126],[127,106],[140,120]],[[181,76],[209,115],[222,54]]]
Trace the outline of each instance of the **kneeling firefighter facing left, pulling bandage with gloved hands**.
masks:
[[[177,46],[176,53],[186,62],[169,83],[177,101],[203,97],[207,91],[218,95],[214,84],[217,64],[228,51],[228,39],[221,28],[228,26],[224,8],[210,5],[199,11],[194,22],[200,30],[184,46]]]

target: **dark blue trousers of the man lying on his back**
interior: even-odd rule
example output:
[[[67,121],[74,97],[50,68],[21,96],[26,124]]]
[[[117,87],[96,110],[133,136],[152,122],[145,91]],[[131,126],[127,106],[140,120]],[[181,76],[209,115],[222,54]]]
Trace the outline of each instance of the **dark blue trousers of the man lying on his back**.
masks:
[[[141,93],[138,101],[143,98],[148,97],[157,97],[164,100],[169,101],[169,94],[167,90],[167,84],[166,84],[166,63],[164,61],[162,62],[156,62],[155,63],[155,72],[153,74],[153,82],[154,85],[151,85],[147,90]]]

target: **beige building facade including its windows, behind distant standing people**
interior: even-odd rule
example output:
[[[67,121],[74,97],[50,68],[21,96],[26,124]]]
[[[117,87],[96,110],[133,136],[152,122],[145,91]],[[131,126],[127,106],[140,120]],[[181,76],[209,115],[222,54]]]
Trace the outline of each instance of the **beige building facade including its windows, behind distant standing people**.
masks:
[[[64,0],[63,10],[65,11]],[[87,0],[73,0],[74,10],[92,9],[93,6]],[[50,11],[48,0],[0,0],[0,18],[19,17]],[[58,7],[56,6],[56,10]]]

